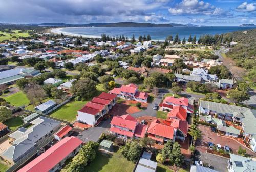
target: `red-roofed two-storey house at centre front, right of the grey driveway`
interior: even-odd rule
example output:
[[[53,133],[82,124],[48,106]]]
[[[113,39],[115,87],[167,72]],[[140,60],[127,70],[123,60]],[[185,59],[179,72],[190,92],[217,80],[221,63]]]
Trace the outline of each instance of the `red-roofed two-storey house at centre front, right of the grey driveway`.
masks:
[[[116,137],[132,140],[143,138],[146,134],[147,125],[139,123],[131,115],[114,116],[110,122],[110,132]]]

